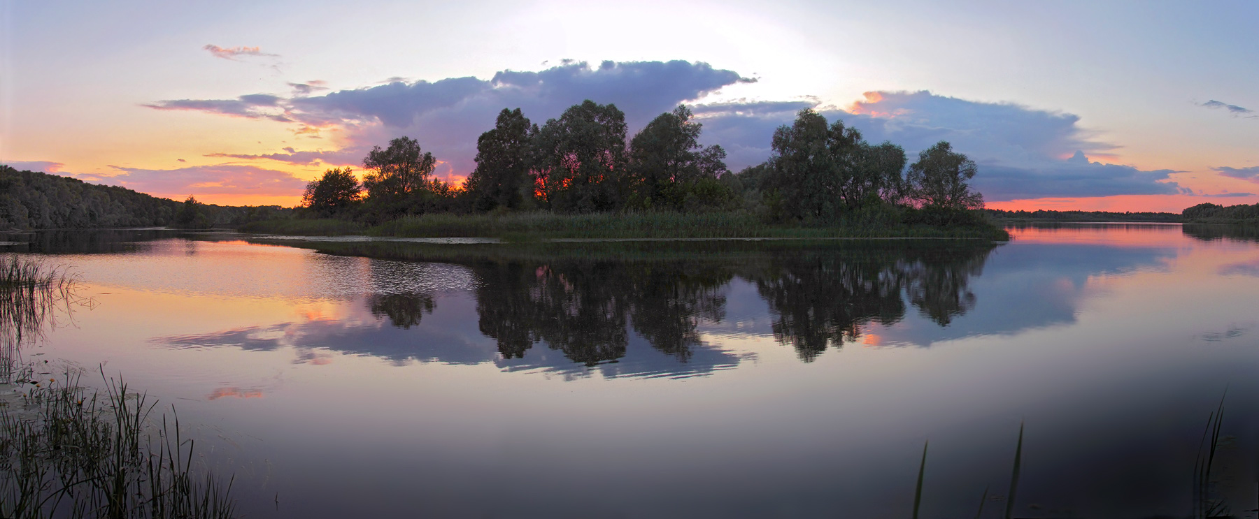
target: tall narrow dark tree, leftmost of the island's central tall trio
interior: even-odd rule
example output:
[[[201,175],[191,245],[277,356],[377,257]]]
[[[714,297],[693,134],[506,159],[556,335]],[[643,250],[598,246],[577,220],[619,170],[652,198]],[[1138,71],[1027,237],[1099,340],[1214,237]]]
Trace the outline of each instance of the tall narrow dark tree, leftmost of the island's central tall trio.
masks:
[[[538,126],[520,108],[499,112],[494,129],[476,141],[476,170],[465,183],[477,210],[516,209],[529,173],[529,145]]]

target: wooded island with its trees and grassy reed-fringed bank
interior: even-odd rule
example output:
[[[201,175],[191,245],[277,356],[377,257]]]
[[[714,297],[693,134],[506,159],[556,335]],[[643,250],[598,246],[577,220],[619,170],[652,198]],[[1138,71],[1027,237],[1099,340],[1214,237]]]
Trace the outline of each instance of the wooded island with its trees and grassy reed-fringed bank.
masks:
[[[585,101],[538,126],[504,109],[458,186],[409,138],[373,148],[361,182],[331,168],[276,234],[529,238],[932,236],[1008,239],[978,211],[976,165],[940,142],[908,163],[900,146],[811,109],[779,127],[772,157],[735,173],[680,106],[627,139],[624,114]]]

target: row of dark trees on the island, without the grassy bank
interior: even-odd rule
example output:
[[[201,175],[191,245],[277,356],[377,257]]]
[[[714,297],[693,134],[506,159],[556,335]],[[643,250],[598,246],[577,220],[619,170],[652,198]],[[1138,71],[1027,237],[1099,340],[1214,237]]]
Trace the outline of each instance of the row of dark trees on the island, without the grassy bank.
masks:
[[[369,222],[514,210],[749,210],[797,222],[925,210],[938,220],[983,206],[968,185],[974,161],[948,142],[906,167],[900,146],[871,145],[842,121],[803,109],[774,132],[768,161],[733,173],[725,150],[700,145],[701,131],[686,106],[628,139],[624,113],[611,103],[587,99],[541,126],[505,108],[477,139],[476,167],[462,185],[434,178],[437,158],[398,137],[368,153],[361,181],[349,167],[330,168],[307,185],[302,205],[311,216]]]

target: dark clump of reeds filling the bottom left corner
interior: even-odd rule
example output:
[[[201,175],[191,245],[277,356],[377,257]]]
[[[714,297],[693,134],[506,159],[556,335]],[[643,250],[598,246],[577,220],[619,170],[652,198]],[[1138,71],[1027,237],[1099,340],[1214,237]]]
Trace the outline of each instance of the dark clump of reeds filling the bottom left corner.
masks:
[[[104,395],[67,374],[0,407],[0,516],[232,518],[232,479],[194,470],[178,416],[108,381]]]

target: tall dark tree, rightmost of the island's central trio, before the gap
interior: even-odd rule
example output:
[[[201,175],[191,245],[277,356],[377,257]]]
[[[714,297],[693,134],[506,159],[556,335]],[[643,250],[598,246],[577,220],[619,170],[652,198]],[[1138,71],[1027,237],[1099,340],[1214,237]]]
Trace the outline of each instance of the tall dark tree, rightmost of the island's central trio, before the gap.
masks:
[[[726,172],[725,150],[699,143],[703,124],[677,106],[656,117],[630,142],[630,172],[642,204],[680,207],[695,182]]]

